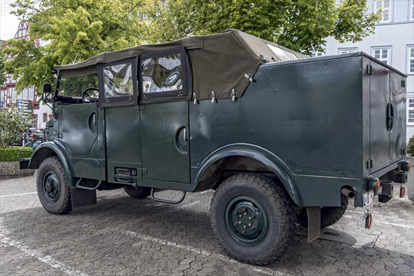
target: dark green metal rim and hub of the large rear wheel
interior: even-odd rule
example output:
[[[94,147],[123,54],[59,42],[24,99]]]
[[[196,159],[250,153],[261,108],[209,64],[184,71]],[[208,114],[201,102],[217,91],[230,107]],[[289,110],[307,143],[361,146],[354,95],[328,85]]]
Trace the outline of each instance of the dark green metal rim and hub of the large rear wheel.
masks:
[[[230,235],[244,245],[259,244],[266,237],[267,215],[264,208],[251,197],[232,199],[226,207],[226,222]]]

